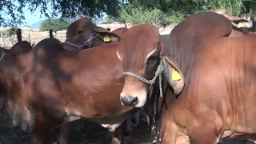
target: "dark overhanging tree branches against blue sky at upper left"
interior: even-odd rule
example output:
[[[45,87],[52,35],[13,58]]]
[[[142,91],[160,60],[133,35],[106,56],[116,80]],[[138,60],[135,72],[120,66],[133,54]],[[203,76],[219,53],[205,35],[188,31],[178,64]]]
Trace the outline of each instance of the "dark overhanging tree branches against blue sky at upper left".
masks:
[[[77,14],[94,18],[102,17],[104,13],[115,15],[120,3],[120,0],[0,0],[0,26],[16,27],[23,24],[25,6],[31,13],[39,9],[46,18],[55,18],[58,14],[62,14],[62,18],[75,17]]]

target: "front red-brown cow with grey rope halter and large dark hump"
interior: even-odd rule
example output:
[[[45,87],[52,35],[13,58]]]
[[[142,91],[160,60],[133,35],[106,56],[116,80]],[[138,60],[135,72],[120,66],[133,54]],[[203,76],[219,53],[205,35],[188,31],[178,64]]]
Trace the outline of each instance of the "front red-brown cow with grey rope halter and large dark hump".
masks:
[[[160,143],[215,144],[231,134],[255,136],[255,34],[229,37],[231,23],[212,12],[180,22],[168,42],[155,26],[129,30],[117,51],[126,75],[121,102],[141,107],[150,90],[161,90]]]

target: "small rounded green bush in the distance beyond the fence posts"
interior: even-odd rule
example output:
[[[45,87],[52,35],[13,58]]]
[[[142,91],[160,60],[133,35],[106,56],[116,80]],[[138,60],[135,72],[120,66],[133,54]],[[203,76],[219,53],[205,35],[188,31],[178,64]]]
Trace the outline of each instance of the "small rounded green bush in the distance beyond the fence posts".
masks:
[[[69,22],[66,22],[62,19],[47,19],[41,23],[40,30],[41,31],[58,31],[58,30],[66,30],[70,25]]]

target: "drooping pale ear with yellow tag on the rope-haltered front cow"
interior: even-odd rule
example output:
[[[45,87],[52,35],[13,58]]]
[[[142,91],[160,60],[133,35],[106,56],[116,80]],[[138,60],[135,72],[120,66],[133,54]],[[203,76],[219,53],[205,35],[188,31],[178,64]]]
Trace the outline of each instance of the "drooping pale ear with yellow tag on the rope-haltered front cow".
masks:
[[[185,86],[184,76],[178,65],[168,56],[162,56],[163,74],[174,89],[174,94],[180,94]]]

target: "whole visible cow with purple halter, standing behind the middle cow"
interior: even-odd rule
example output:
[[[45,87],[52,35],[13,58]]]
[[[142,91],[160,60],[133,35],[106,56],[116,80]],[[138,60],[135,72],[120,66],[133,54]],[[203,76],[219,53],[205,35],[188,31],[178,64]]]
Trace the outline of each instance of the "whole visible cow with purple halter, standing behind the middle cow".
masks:
[[[63,42],[63,46],[65,50],[82,50],[92,48],[94,46],[101,46],[109,42],[118,42],[126,30],[128,29],[118,28],[117,30],[110,32],[109,30],[96,26],[91,22],[90,18],[82,17],[77,21],[72,22],[68,27],[66,31],[66,41]],[[138,125],[138,117],[138,114],[135,115],[135,121],[133,121],[135,123],[134,126]],[[132,133],[130,124],[133,124],[130,118],[123,123],[123,125],[126,125],[124,127],[126,134]],[[85,126],[86,129],[83,130],[88,131],[94,128],[93,126],[88,125],[87,122],[85,122]],[[120,132],[120,130],[118,131]]]

